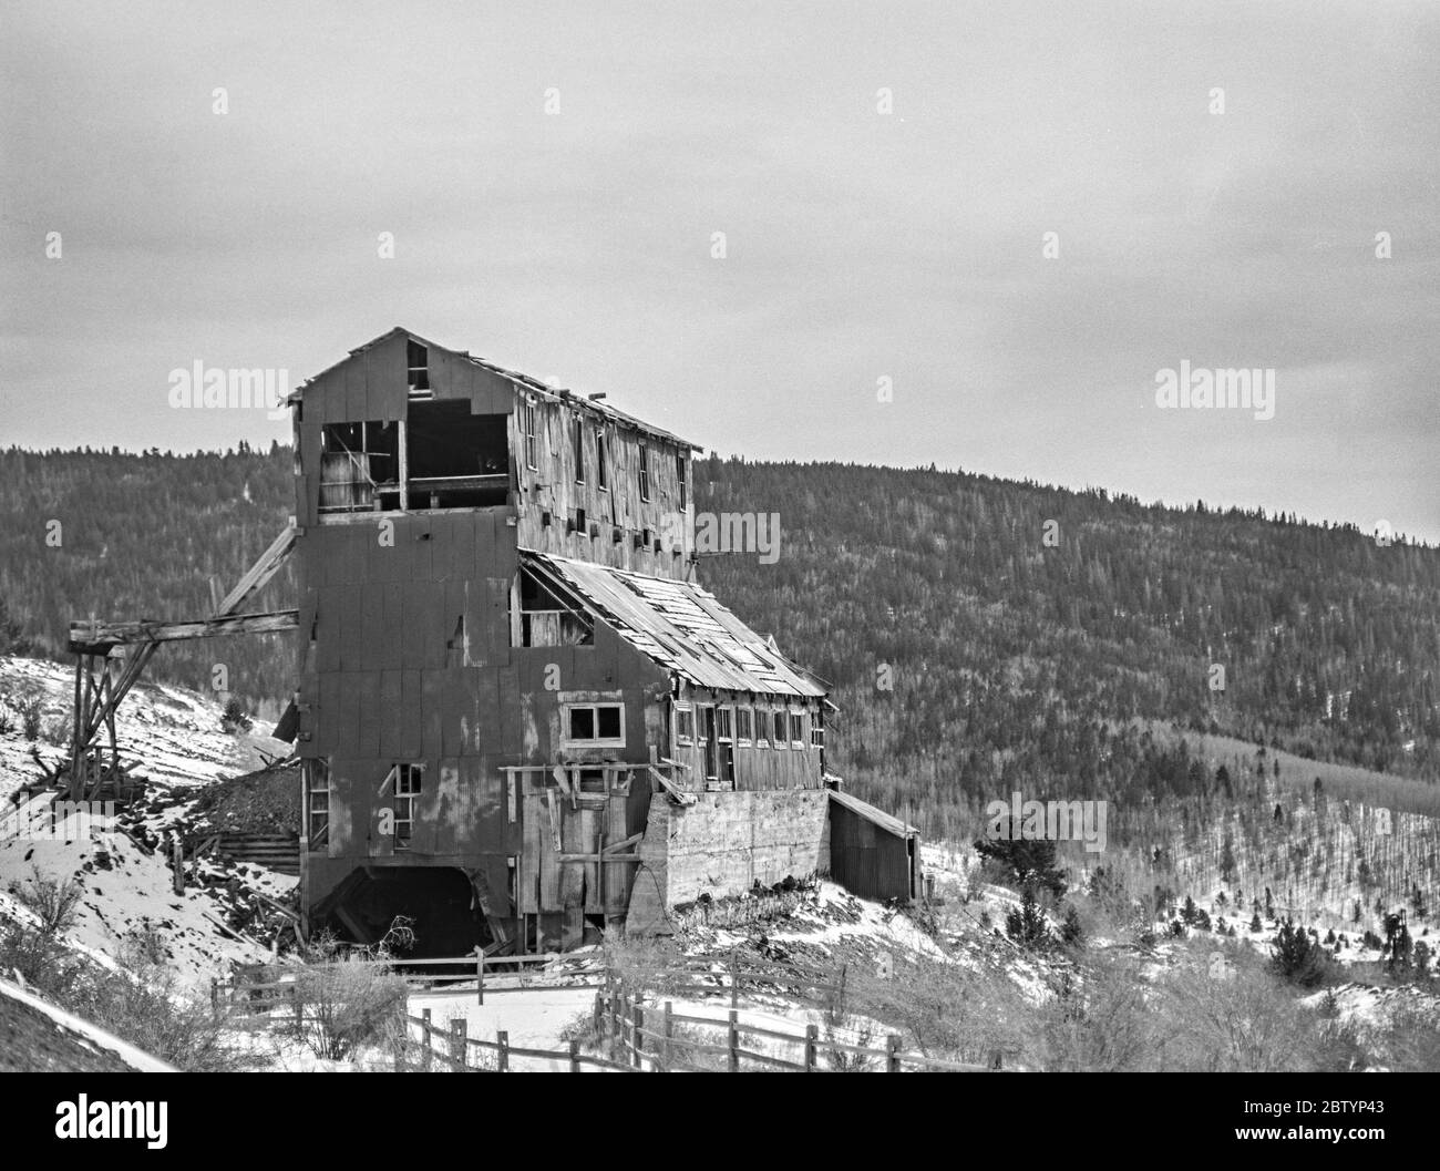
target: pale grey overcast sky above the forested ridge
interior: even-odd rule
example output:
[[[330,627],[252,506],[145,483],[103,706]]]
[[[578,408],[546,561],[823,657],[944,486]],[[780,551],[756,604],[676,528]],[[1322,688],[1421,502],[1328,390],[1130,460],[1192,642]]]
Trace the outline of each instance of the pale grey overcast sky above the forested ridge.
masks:
[[[726,454],[1440,542],[1440,4],[0,12],[0,444],[288,439],[170,372],[399,324]]]

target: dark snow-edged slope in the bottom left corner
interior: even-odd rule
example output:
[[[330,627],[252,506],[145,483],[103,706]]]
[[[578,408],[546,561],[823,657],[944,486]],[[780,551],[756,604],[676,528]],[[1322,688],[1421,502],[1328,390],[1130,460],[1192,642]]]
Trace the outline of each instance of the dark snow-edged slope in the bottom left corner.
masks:
[[[157,1057],[0,979],[0,1072],[174,1073]]]

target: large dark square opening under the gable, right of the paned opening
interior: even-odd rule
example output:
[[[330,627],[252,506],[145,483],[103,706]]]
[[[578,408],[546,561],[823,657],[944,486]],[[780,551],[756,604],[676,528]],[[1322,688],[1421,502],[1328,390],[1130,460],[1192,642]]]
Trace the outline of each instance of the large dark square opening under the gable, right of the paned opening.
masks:
[[[405,428],[412,510],[487,508],[510,494],[505,415],[471,415],[464,399],[410,403]]]

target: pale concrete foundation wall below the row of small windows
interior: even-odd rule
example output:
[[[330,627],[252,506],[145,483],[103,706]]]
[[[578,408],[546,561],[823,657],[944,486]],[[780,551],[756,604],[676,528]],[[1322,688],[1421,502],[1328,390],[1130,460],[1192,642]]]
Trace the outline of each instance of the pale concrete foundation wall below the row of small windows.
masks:
[[[671,930],[667,912],[829,870],[829,792],[701,792],[680,807],[651,798],[626,930]]]

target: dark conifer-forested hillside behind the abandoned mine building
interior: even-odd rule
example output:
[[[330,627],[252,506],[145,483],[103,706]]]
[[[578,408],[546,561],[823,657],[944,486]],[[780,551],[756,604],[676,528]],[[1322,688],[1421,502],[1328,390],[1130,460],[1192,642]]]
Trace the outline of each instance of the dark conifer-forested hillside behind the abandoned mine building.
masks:
[[[228,588],[285,523],[289,475],[281,447],[3,452],[0,598],[50,651],[92,611],[204,612],[209,578]],[[703,511],[779,514],[773,563],[707,556],[700,578],[835,684],[835,771],[930,830],[1012,789],[1214,794],[1156,720],[1440,779],[1440,550],[923,470],[711,458],[694,480]],[[209,687],[216,663],[266,707],[291,687],[282,638],[167,647],[154,670]]]

